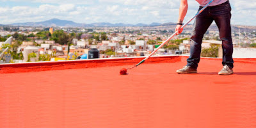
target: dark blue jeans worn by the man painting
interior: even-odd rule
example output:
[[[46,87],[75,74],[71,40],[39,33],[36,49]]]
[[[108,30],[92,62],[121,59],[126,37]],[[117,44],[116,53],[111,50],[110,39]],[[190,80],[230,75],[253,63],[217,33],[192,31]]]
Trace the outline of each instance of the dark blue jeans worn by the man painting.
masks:
[[[203,8],[200,6],[199,10]],[[213,20],[216,22],[218,29],[220,31],[220,39],[222,41],[223,49],[223,61],[222,65],[228,65],[228,67],[233,68],[234,60],[232,58],[233,54],[233,43],[231,36],[231,6],[229,1],[217,5],[209,6],[200,13],[194,22],[193,33],[191,36],[190,44],[190,56],[188,58],[188,66],[192,68],[197,68],[200,61],[200,54],[202,49],[202,40],[205,32],[211,26]]]

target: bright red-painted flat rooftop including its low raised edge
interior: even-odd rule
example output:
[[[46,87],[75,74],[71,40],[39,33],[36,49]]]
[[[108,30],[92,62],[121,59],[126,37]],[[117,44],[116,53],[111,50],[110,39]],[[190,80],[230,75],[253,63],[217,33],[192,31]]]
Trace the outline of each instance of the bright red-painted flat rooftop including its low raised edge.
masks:
[[[0,65],[0,127],[256,127],[256,59],[236,59],[231,76],[216,58],[176,74],[186,58],[150,58],[126,76],[143,58]]]

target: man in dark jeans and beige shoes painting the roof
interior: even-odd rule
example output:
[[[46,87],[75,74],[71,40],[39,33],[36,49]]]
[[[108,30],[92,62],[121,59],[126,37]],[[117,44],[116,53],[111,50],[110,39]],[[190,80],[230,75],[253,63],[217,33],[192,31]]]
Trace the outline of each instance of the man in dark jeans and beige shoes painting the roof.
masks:
[[[200,4],[200,8],[203,8],[205,4],[209,3],[210,0],[196,0]],[[182,22],[186,16],[188,10],[188,0],[181,0],[180,3],[180,13],[179,20],[175,31],[179,34],[182,33]],[[190,44],[190,56],[188,58],[188,64],[177,70],[179,74],[197,73],[198,63],[200,61],[200,53],[202,49],[202,39],[205,32],[211,26],[213,20],[216,22],[218,29],[220,31],[220,39],[222,41],[223,49],[223,68],[219,72],[219,75],[229,75],[233,74],[232,68],[233,63],[233,44],[231,36],[231,6],[228,0],[214,0],[205,10],[200,13],[194,22],[193,33],[191,36]]]

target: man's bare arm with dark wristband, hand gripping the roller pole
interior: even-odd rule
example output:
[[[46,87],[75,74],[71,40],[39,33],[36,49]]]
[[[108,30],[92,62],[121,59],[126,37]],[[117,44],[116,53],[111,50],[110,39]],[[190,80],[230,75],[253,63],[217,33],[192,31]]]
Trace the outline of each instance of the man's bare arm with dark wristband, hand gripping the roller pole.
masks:
[[[176,26],[175,31],[178,31],[178,34],[182,33],[183,29],[182,27],[182,22],[184,20],[184,17],[186,16],[188,11],[188,0],[181,0],[180,1],[180,13],[179,13],[179,19],[178,19],[178,23]]]

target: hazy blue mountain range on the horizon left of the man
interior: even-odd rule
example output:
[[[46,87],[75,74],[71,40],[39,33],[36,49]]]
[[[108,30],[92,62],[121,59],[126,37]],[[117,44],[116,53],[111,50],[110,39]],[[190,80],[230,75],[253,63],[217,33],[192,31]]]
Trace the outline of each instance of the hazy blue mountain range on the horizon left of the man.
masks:
[[[169,23],[158,23],[153,22],[152,24],[124,24],[124,23],[117,23],[117,24],[111,24],[109,22],[97,22],[92,24],[83,24],[83,23],[76,23],[71,20],[60,20],[60,19],[50,19],[45,20],[42,22],[24,22],[24,23],[14,23],[14,24],[8,24],[10,26],[44,26],[44,27],[122,27],[122,26],[161,26],[161,25],[173,25],[175,23],[169,22]]]

